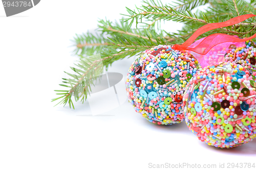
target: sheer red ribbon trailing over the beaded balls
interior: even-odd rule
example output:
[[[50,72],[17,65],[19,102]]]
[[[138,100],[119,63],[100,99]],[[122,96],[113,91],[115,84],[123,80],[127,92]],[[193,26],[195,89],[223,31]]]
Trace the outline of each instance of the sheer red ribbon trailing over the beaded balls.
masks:
[[[200,36],[203,33],[206,33],[210,30],[214,30],[217,28],[221,28],[221,27],[227,27],[227,26],[232,26],[235,25],[236,23],[242,22],[250,17],[253,17],[256,15],[253,14],[246,14],[246,15],[241,15],[241,16],[237,16],[234,17],[232,19],[229,19],[225,22],[217,22],[217,23],[208,23],[207,25],[200,27],[193,35],[191,35],[182,45],[178,45],[175,44],[172,48],[174,50],[188,50],[188,51],[193,51],[195,53],[201,54],[201,55],[205,55],[207,54],[210,49],[212,47],[214,47],[215,45],[218,45],[220,43],[223,42],[244,42],[247,40],[250,40],[252,38],[256,37],[256,34],[254,34],[251,37],[248,38],[237,38],[231,35],[227,35],[227,34],[221,34],[221,33],[217,33],[217,34],[212,34],[207,36],[206,38],[204,38],[197,46],[195,47],[189,47],[198,36]]]

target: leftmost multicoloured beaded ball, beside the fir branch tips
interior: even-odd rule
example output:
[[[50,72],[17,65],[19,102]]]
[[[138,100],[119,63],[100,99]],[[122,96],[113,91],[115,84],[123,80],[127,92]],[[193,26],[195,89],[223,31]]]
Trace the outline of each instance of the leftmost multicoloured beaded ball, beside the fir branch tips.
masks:
[[[129,102],[151,123],[179,124],[184,120],[185,87],[198,69],[201,66],[193,56],[175,51],[169,45],[145,50],[127,74]]]

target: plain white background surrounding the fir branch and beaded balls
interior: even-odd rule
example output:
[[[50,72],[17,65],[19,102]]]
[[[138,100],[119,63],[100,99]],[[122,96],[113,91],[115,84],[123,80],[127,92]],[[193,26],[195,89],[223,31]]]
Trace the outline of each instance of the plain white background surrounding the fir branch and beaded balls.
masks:
[[[163,3],[165,1],[162,1]],[[209,147],[183,122],[157,126],[129,103],[92,116],[88,102],[56,106],[63,71],[77,60],[70,40],[97,18],[119,19],[139,1],[41,1],[5,17],[0,7],[0,169],[148,169],[148,163],[256,163],[256,140],[234,149]],[[167,31],[181,24],[166,21]],[[124,76],[134,58],[110,71]],[[99,101],[98,105],[101,105]],[[227,164],[226,164],[227,165]]]

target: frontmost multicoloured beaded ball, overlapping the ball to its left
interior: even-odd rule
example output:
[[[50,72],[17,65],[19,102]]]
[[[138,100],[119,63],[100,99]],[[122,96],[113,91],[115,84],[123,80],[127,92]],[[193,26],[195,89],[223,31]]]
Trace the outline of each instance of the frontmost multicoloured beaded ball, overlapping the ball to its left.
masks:
[[[183,97],[185,122],[201,141],[233,148],[256,135],[255,83],[236,63],[207,66],[195,74]]]

